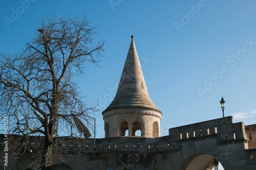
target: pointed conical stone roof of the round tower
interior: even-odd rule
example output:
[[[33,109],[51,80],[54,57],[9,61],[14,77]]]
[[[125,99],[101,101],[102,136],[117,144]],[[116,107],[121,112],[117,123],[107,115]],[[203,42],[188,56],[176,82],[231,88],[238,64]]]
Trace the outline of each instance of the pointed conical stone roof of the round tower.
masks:
[[[116,96],[102,114],[110,110],[123,108],[149,109],[162,114],[148,95],[133,35]]]

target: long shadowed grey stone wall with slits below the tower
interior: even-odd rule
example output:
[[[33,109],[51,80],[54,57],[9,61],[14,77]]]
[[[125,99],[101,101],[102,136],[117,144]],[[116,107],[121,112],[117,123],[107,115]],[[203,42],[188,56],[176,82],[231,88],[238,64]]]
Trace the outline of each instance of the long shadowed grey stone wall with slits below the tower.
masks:
[[[67,151],[62,160],[53,159],[54,168],[208,170],[216,158],[225,170],[251,170],[256,168],[254,128],[255,125],[245,127],[243,123],[233,123],[229,116],[171,128],[168,136],[157,138],[117,136],[96,139],[95,144],[94,139],[77,144],[71,138],[65,138],[54,145],[55,151],[59,147]],[[3,139],[0,135],[2,142]],[[26,162],[31,154],[29,150],[34,152],[42,148],[43,144],[29,142],[22,157],[15,159],[13,155],[9,158],[9,167],[18,169],[18,163]],[[2,143],[0,150],[3,149]]]

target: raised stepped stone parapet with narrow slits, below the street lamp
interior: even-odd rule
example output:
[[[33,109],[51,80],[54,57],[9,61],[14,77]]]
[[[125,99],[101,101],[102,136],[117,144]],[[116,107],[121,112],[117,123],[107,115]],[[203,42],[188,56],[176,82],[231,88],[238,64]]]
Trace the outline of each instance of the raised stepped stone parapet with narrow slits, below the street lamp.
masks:
[[[215,137],[219,143],[247,140],[244,123],[233,123],[233,117],[223,117],[169,129],[169,136],[178,141]]]

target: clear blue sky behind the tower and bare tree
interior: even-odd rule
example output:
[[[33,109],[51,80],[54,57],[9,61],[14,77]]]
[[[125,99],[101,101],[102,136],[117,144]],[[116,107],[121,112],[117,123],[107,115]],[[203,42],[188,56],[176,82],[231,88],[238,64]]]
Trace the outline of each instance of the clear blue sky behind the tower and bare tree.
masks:
[[[256,124],[256,2],[193,1],[1,1],[1,51],[19,51],[44,16],[88,15],[105,40],[99,65],[77,79],[87,102],[103,111],[116,87],[134,35],[148,93],[168,128],[225,116]],[[15,15],[16,13],[16,15]],[[9,20],[7,19],[9,18]],[[11,20],[11,21],[10,21]],[[97,138],[104,137],[97,112]]]

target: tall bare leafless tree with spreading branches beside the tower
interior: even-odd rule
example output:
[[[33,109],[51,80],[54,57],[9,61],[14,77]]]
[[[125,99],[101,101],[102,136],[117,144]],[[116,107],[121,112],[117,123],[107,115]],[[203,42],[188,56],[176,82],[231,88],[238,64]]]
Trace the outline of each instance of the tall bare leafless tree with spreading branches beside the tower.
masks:
[[[83,124],[97,109],[83,101],[74,78],[84,74],[84,63],[97,65],[104,41],[95,42],[85,15],[44,17],[35,29],[20,53],[1,54],[1,112],[9,115],[10,134],[43,136],[40,168],[49,169],[58,137],[90,137]]]

